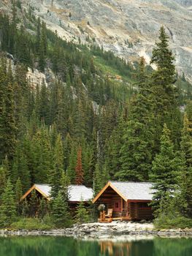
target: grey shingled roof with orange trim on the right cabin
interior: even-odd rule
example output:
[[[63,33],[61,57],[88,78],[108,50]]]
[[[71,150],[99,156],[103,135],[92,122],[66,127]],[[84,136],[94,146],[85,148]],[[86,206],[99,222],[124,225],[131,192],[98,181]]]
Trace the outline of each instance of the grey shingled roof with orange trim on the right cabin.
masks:
[[[150,182],[130,182],[130,181],[109,181],[98,195],[93,199],[93,203],[111,187],[124,200],[152,200],[154,189]]]

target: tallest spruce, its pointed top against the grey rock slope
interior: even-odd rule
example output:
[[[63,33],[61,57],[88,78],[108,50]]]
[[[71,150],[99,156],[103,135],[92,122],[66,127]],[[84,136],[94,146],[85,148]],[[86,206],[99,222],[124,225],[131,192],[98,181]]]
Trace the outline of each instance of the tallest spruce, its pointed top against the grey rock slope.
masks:
[[[169,37],[164,26],[161,26],[158,42],[155,43],[153,56],[150,61],[157,69],[153,71],[151,86],[153,89],[153,115],[155,121],[155,148],[158,152],[161,129],[164,123],[172,130],[172,140],[179,144],[181,129],[181,114],[177,100],[177,88],[174,86],[176,73],[174,67],[174,56],[169,49]]]

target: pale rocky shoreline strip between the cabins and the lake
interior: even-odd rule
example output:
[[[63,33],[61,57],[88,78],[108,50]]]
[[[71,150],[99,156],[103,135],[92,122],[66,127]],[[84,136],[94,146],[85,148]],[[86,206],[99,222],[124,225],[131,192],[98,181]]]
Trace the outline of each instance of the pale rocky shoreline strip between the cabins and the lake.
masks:
[[[152,223],[112,222],[74,225],[60,230],[0,230],[0,236],[73,236],[96,239],[114,236],[192,237],[192,229],[154,230]]]

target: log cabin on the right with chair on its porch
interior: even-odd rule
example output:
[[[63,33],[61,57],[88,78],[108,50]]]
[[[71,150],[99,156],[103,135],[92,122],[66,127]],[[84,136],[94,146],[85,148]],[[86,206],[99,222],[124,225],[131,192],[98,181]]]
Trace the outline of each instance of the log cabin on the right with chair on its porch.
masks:
[[[149,205],[153,197],[152,187],[149,182],[109,181],[92,200],[98,206],[105,206],[99,221],[153,219]],[[109,209],[112,212],[110,219],[105,218],[109,217]]]

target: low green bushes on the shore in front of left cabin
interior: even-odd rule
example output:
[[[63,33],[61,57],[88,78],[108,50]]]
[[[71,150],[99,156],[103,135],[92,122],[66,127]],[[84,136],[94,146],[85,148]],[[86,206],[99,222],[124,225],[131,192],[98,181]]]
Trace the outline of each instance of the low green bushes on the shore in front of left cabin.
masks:
[[[45,217],[44,219],[38,218],[23,218],[19,219],[17,222],[13,222],[10,228],[15,230],[50,230],[54,228],[50,217]]]

